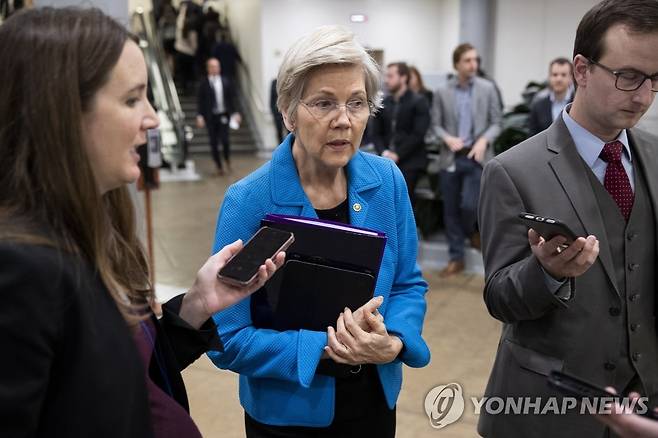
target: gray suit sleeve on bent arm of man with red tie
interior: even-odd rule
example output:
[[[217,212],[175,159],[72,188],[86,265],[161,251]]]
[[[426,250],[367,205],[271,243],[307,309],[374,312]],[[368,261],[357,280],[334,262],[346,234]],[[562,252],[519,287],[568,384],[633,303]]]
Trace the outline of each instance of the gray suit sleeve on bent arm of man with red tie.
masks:
[[[530,251],[528,231],[517,218],[522,211],[517,187],[494,158],[482,174],[478,208],[484,301],[491,316],[507,323],[538,319],[568,306],[548,289],[544,271]]]

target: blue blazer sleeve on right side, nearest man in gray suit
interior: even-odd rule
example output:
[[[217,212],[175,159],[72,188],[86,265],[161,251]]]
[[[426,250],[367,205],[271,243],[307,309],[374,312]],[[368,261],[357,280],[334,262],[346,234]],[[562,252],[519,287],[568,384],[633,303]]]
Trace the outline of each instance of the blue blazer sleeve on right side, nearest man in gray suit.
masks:
[[[397,271],[384,311],[384,323],[388,332],[397,335],[404,345],[399,360],[419,368],[430,361],[430,350],[421,336],[427,310],[427,283],[416,262],[416,222],[404,178],[393,163],[391,171],[397,211]]]

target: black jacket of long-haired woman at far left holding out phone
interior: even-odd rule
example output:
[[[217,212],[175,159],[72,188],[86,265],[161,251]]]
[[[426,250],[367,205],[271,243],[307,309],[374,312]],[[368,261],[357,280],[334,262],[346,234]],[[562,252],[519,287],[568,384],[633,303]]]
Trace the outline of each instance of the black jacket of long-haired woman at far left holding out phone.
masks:
[[[51,247],[2,242],[0,299],[0,436],[154,436],[133,334],[91,265]],[[181,301],[151,321],[169,392],[187,411],[180,371],[221,343],[212,319],[196,331],[178,317]],[[149,376],[164,388],[156,361]]]

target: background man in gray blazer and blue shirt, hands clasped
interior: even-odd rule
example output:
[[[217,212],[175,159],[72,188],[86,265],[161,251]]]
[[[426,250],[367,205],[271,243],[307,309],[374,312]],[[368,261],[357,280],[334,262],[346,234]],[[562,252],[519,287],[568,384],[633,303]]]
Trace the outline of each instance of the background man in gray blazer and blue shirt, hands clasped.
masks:
[[[434,93],[432,129],[443,140],[439,178],[443,220],[450,262],[440,272],[447,277],[464,270],[464,240],[479,249],[476,214],[482,165],[493,157],[493,140],[500,133],[501,108],[496,87],[476,76],[478,54],[460,44],[452,61],[457,75]]]

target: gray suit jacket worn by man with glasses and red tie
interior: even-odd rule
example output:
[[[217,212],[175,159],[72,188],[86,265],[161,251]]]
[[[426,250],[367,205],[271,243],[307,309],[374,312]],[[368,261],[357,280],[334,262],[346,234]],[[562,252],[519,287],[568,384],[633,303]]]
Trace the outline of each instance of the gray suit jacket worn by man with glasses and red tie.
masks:
[[[658,138],[629,130],[634,160],[647,181],[658,211]],[[503,331],[485,395],[488,397],[559,396],[548,387],[551,370],[564,370],[607,386],[615,372],[606,367],[622,351],[629,336],[625,318],[613,317],[621,296],[614,280],[612,256],[603,219],[584,163],[562,118],[546,131],[492,159],[484,168],[479,223],[486,285],[484,300]],[[571,299],[562,301],[547,288],[532,255],[527,229],[517,219],[532,212],[564,221],[577,235],[595,235],[597,261],[573,284]],[[658,232],[658,228],[656,229]],[[658,394],[658,353],[653,291],[633,304],[635,318],[646,327],[641,340],[652,377],[649,397]],[[637,336],[637,335],[636,335]],[[653,361],[653,363],[652,363]],[[604,427],[589,415],[480,415],[478,432],[485,437],[602,437]]]

